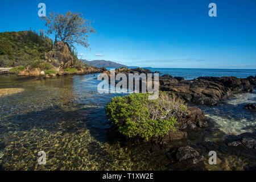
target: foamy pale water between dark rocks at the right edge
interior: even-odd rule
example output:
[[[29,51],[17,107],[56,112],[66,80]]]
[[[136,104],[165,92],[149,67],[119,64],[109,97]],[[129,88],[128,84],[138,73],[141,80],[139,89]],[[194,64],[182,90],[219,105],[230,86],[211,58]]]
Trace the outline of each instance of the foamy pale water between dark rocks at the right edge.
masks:
[[[256,113],[243,109],[248,103],[256,102],[256,93],[237,93],[220,106],[198,106],[205,116],[213,119],[214,128],[226,135],[240,135],[256,132]],[[212,128],[212,130],[214,130]]]

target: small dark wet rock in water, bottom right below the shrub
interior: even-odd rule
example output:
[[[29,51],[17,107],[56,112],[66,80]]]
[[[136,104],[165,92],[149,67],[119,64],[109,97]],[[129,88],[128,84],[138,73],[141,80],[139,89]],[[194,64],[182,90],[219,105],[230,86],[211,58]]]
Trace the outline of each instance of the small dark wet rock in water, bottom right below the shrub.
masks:
[[[186,161],[190,164],[197,164],[204,160],[204,156],[201,156],[199,152],[190,146],[171,148],[166,155],[171,162]]]

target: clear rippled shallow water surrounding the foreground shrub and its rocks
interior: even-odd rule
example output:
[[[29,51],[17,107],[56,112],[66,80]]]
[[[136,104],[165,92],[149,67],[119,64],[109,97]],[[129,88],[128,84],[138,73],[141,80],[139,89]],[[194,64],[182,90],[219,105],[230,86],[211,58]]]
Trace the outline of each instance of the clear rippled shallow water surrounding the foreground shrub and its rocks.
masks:
[[[133,144],[113,135],[105,116],[105,106],[112,97],[120,94],[99,94],[97,84],[100,81],[96,77],[85,75],[38,80],[0,76],[0,88],[24,89],[24,92],[0,97],[0,169],[176,169],[169,165],[164,155],[168,147]],[[246,98],[254,100],[252,96]],[[226,147],[218,145],[216,150],[220,153],[221,163],[210,166],[207,152],[214,143],[210,147],[208,143],[200,144],[222,141],[230,135],[255,133],[255,114],[241,109],[246,103],[230,104],[234,99],[218,107],[201,106],[205,114],[213,118],[211,127],[191,131],[188,140],[171,143],[172,146],[194,146],[205,156],[203,169],[245,169],[254,165],[247,162],[246,155],[250,151],[237,156],[237,151],[228,149],[226,154]],[[232,128],[229,121],[237,122],[236,127]],[[243,121],[242,124],[239,121]],[[230,127],[232,131],[228,130]],[[46,165],[38,164],[39,151],[46,152]]]

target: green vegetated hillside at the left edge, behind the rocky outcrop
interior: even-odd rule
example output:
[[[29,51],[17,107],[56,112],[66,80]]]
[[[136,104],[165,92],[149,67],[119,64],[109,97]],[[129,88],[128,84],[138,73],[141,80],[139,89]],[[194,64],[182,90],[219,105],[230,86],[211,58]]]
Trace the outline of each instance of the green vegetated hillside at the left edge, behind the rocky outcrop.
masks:
[[[53,47],[51,39],[35,31],[0,33],[0,67],[26,67]]]

